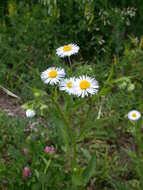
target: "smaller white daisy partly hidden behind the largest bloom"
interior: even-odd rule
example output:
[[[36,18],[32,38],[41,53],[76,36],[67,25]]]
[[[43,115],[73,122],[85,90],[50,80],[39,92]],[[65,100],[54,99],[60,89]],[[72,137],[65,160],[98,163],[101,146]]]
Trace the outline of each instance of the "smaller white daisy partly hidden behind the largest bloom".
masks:
[[[64,79],[60,82],[60,90],[75,94],[75,78]]]

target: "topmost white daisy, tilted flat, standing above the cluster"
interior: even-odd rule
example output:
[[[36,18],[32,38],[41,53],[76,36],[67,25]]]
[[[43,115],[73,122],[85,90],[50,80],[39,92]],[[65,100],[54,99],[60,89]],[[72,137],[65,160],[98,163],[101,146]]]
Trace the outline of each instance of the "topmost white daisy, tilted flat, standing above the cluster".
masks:
[[[79,46],[77,46],[76,44],[68,44],[68,45],[64,45],[59,47],[56,50],[56,54],[60,57],[66,57],[66,56],[71,56],[73,54],[78,53],[79,51]]]

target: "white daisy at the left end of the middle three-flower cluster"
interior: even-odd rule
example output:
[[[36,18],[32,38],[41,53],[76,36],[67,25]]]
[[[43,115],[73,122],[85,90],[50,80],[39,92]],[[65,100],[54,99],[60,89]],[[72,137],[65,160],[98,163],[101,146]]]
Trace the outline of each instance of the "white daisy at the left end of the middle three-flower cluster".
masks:
[[[57,84],[65,77],[64,69],[57,67],[50,67],[41,74],[41,79],[45,84]]]

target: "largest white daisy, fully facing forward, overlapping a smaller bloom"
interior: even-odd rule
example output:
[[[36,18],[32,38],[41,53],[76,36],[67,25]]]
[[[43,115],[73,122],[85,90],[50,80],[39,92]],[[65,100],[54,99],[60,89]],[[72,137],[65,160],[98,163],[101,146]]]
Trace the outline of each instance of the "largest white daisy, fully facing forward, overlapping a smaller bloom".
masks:
[[[98,92],[99,85],[94,78],[83,75],[76,79],[75,83],[75,94],[77,96],[81,96],[82,98],[88,96],[89,94],[93,95]]]

